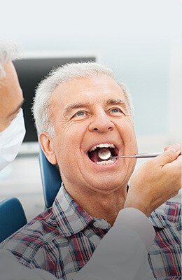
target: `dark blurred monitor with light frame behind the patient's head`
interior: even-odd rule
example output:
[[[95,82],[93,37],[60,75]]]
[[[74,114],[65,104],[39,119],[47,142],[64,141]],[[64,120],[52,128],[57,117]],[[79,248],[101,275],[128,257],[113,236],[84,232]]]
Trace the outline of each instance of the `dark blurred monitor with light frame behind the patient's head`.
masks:
[[[71,62],[96,62],[96,55],[27,55],[25,58],[13,62],[18,73],[25,103],[22,106],[25,117],[26,135],[20,153],[38,153],[38,139],[31,106],[35,89],[40,81],[48,75],[50,70]]]

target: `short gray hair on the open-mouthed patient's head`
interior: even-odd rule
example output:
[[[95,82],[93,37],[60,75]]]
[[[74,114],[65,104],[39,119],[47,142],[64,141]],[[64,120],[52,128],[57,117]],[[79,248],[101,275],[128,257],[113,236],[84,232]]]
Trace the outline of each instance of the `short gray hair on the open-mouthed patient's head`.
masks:
[[[50,113],[50,97],[55,88],[61,83],[68,82],[73,78],[90,78],[93,76],[109,76],[116,80],[114,73],[108,67],[95,62],[71,63],[60,66],[50,72],[45,80],[42,80],[36,88],[32,112],[38,134],[48,132],[53,137],[55,134]],[[118,83],[116,81],[116,83]],[[123,90],[130,114],[132,115],[133,106],[130,93],[123,83],[118,83]]]

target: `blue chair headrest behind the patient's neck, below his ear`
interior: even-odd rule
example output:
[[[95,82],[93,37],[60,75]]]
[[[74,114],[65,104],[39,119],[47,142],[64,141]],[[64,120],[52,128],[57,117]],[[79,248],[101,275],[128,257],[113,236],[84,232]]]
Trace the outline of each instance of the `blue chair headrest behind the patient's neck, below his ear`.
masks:
[[[52,165],[45,157],[41,147],[38,155],[43,185],[45,209],[52,207],[52,203],[62,184],[62,179],[57,165]]]

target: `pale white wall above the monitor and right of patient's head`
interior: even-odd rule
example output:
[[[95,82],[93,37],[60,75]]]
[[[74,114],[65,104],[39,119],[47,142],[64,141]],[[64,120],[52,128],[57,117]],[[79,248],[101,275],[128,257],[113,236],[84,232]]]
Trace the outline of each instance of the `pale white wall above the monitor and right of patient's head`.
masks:
[[[25,50],[99,53],[132,92],[137,134],[169,144],[182,139],[180,12],[179,0],[6,0],[0,36]]]

